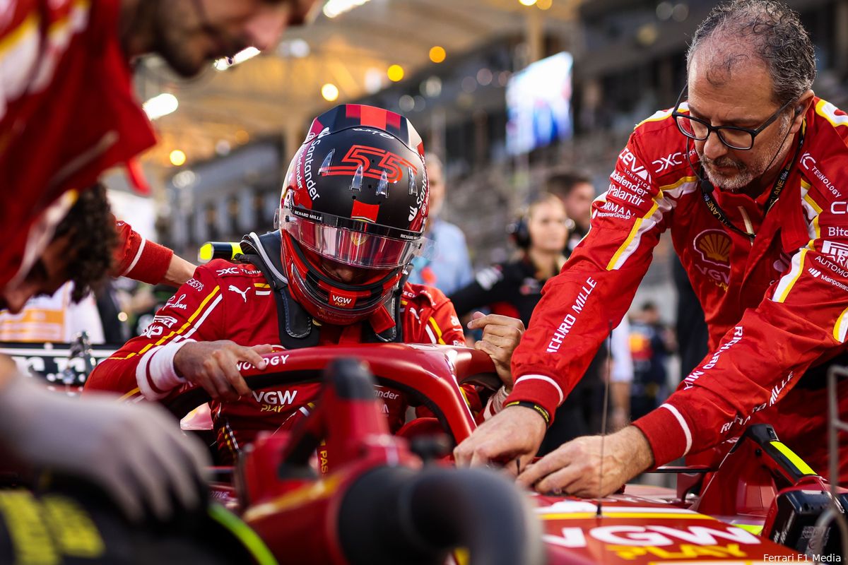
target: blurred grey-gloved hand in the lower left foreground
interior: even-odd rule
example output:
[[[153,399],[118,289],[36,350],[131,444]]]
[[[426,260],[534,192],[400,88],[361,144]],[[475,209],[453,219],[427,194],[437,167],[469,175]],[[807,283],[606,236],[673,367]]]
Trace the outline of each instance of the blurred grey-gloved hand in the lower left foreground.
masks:
[[[19,465],[87,479],[132,521],[144,518],[145,501],[160,520],[176,510],[172,496],[189,510],[205,504],[209,454],[163,408],[69,398],[27,381],[17,376],[0,391],[0,444]]]

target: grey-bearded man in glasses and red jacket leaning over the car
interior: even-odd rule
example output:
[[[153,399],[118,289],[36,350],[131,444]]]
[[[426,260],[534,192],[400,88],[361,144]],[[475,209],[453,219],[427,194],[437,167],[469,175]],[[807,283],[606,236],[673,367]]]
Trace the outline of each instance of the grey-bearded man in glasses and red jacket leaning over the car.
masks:
[[[460,463],[520,457],[523,485],[603,496],[766,422],[826,472],[824,374],[845,364],[848,333],[848,115],[813,94],[812,42],[783,3],[714,8],[687,64],[678,103],[633,130],[594,202],[589,235],[548,282],[516,349],[507,400],[527,404],[478,428],[456,448]],[[665,404],[606,437],[603,462],[594,436],[525,467],[545,430],[528,408],[553,414],[572,390],[667,229],[704,307],[712,352]],[[840,482],[848,482],[845,451]]]

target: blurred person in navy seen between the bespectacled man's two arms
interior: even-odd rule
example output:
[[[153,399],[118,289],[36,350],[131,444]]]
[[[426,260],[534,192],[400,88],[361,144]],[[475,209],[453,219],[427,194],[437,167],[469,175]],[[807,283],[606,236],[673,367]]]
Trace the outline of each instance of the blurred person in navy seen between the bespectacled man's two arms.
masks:
[[[644,302],[630,317],[630,353],[633,357],[633,419],[642,418],[668,397],[668,355],[674,352],[674,336],[660,321],[654,302]],[[703,357],[702,357],[703,358]]]

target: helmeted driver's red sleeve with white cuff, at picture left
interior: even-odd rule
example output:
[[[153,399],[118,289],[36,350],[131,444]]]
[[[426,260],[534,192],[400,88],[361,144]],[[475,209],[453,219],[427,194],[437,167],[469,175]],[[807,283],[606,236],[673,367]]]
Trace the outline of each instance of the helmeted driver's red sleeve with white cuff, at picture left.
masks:
[[[176,352],[192,341],[221,339],[224,327],[218,280],[206,267],[195,275],[159,309],[144,335],[98,363],[86,391],[140,392],[159,400],[185,382],[174,368]]]

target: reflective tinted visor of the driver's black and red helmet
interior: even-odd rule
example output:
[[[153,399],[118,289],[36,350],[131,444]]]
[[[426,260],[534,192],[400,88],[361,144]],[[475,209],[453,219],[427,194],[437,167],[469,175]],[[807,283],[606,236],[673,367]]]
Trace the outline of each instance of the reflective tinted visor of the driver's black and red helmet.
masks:
[[[286,215],[280,225],[294,241],[321,257],[363,267],[393,269],[409,263],[425,244],[422,237],[400,240],[341,226],[332,226]]]

